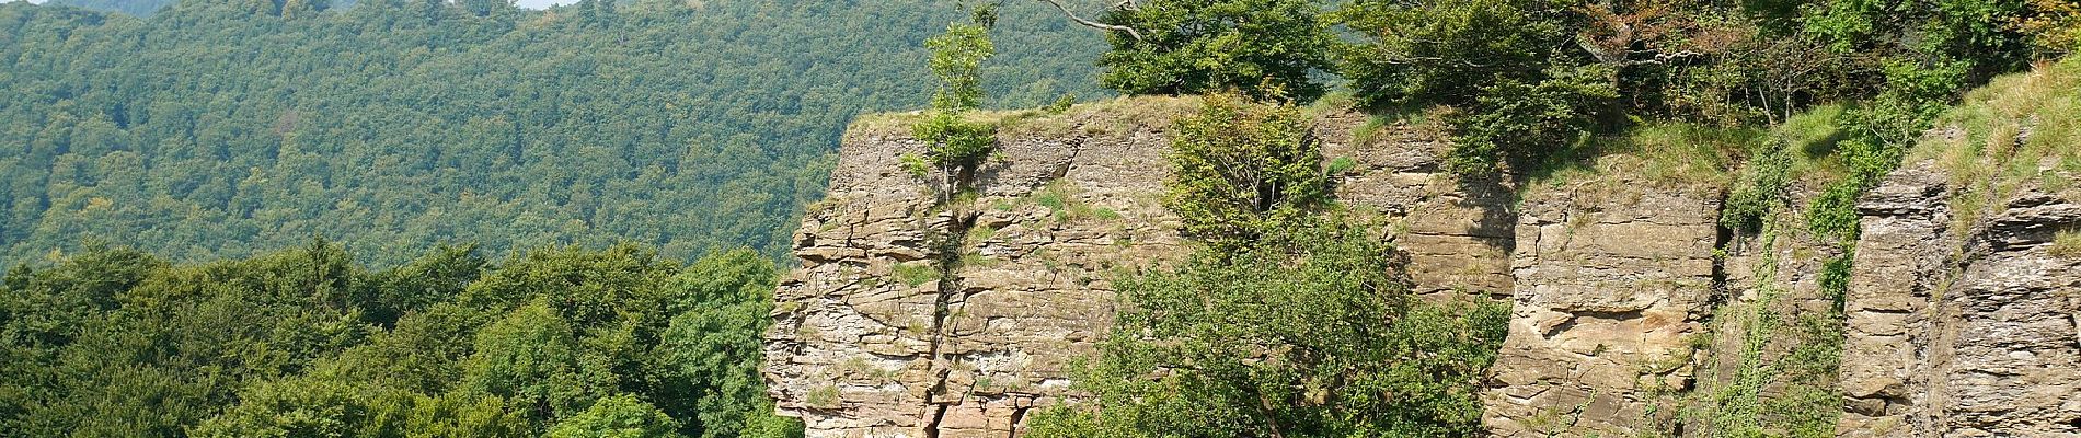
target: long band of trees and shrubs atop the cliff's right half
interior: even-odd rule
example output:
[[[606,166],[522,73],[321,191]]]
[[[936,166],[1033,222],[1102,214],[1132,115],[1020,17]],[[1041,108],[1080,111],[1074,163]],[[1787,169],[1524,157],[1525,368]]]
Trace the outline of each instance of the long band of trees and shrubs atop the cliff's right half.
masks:
[[[2021,12],[2014,0],[1361,0],[1332,21],[1365,37],[1340,52],[1355,98],[1455,108],[1453,168],[1482,174],[1536,172],[1650,116],[1740,127],[1854,100],[1873,104],[1842,118],[1871,137],[1852,164],[1887,168],[1885,149],[1927,129],[1929,108],[2021,69],[2023,35],[1987,19]]]

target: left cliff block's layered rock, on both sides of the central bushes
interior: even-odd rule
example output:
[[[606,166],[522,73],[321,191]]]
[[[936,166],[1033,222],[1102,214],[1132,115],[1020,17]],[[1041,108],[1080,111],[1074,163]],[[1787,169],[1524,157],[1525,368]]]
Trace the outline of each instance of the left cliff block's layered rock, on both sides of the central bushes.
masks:
[[[1186,251],[1159,197],[1165,129],[1192,104],[1020,120],[957,208],[903,170],[924,147],[905,129],[855,127],[776,293],[766,380],[780,413],[810,436],[1007,436],[1065,396],[1065,361],[1111,324],[1107,274]],[[1440,172],[1444,143],[1417,129],[1361,139],[1363,114],[1317,120],[1324,154],[1355,164],[1338,197],[1401,224],[1421,293],[1511,291],[1511,191]]]

